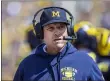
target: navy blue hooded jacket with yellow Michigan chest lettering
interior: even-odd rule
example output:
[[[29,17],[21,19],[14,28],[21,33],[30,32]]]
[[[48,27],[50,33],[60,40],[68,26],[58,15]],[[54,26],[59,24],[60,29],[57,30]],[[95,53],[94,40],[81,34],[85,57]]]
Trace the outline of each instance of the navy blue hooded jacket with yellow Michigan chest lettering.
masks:
[[[104,81],[96,63],[85,51],[67,43],[57,55],[44,52],[41,44],[19,65],[14,81]]]

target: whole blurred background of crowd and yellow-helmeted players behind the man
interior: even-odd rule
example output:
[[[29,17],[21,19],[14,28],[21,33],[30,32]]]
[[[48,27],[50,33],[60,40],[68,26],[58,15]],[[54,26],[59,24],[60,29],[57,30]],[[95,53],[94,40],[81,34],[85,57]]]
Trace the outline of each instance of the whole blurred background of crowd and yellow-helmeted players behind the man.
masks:
[[[20,61],[42,43],[35,37],[32,19],[47,6],[60,6],[72,12],[77,33],[77,40],[72,43],[79,50],[88,51],[106,81],[110,81],[110,1],[96,0],[2,1],[2,80],[12,80]]]

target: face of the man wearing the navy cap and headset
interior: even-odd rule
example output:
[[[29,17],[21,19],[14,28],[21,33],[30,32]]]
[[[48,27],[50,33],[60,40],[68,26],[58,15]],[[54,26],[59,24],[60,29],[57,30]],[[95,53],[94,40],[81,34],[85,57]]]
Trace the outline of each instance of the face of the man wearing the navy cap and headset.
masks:
[[[68,36],[67,26],[64,23],[53,23],[44,27],[44,42],[48,47],[62,48],[66,44],[66,40],[57,40]]]

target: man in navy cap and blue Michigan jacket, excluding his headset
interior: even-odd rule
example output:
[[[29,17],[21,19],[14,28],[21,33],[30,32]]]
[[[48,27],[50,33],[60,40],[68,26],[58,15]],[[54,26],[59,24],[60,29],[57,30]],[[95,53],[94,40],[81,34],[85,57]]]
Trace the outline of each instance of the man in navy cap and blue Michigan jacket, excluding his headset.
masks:
[[[104,81],[92,58],[63,40],[70,24],[64,9],[44,9],[40,24],[44,43],[20,63],[14,81]]]

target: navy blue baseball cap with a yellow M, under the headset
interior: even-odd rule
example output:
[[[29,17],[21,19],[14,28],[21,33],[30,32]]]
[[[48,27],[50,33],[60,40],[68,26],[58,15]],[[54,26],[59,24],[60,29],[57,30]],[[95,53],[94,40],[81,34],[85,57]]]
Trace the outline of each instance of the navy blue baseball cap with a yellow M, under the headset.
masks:
[[[56,22],[69,24],[66,17],[66,11],[59,8],[44,9],[40,17],[41,26],[43,27],[45,25],[56,23]]]

